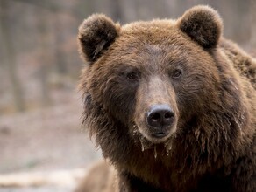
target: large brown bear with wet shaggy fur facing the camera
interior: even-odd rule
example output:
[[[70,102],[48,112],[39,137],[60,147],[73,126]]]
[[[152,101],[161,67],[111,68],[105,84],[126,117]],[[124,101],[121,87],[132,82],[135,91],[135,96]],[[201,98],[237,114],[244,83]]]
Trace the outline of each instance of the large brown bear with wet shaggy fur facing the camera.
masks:
[[[216,10],[177,20],[84,20],[84,124],[117,191],[256,191],[256,61]]]

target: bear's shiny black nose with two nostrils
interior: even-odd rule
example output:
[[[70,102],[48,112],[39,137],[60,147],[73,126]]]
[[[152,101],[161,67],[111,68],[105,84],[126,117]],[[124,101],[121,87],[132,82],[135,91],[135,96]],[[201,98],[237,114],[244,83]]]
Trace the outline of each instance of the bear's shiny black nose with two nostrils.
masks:
[[[147,124],[159,133],[162,129],[172,125],[174,122],[174,112],[167,104],[153,105],[146,114]]]

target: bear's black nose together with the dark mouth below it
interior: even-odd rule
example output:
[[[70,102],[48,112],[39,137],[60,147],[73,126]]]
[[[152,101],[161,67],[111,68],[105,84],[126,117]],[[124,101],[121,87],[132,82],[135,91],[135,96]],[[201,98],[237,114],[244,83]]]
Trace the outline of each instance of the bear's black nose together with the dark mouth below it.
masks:
[[[146,113],[146,122],[153,137],[163,138],[174,123],[174,112],[167,104],[153,105]]]

